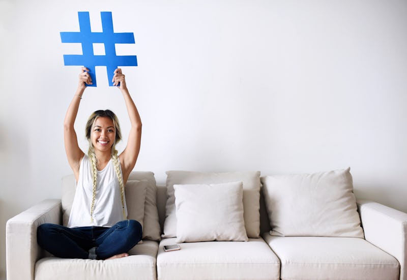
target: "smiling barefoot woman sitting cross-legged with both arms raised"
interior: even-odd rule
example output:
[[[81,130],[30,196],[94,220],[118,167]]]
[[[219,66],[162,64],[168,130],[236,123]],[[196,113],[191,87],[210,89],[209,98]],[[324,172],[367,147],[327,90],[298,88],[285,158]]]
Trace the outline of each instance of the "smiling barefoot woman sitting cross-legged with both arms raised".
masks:
[[[74,122],[86,84],[92,84],[89,69],[82,68],[79,85],[64,121],[65,150],[76,179],[76,192],[67,227],[38,227],[41,247],[56,257],[115,259],[127,257],[142,237],[139,222],[127,220],[124,186],[138,157],[141,120],[126,86],[125,75],[116,69],[113,85],[123,94],[131,129],[124,151],[115,149],[121,140],[117,117],[110,110],[94,112],[86,124],[89,151],[78,145]]]

